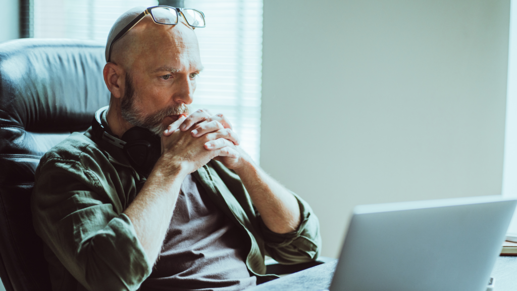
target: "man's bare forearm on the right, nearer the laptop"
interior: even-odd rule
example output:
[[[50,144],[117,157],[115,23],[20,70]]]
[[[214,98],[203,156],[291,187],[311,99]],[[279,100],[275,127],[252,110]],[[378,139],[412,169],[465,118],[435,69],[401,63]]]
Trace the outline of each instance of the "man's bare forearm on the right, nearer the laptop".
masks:
[[[249,158],[234,170],[270,230],[285,234],[298,228],[301,220],[298,201],[284,186]]]

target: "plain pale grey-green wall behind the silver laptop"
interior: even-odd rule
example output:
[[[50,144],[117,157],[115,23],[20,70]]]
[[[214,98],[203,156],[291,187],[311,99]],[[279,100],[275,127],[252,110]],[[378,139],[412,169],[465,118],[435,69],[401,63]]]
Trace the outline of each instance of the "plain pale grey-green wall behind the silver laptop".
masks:
[[[264,0],[261,166],[355,205],[501,193],[509,0]],[[379,238],[382,243],[382,238]]]

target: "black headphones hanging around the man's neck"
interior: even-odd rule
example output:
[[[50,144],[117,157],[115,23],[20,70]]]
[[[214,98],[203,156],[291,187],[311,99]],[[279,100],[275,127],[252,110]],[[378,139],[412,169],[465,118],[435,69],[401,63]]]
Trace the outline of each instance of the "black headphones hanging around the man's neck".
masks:
[[[105,131],[101,122],[101,114],[108,107],[102,107],[95,112],[95,117],[92,121],[93,134],[96,138],[107,141],[115,147],[122,149],[131,166],[145,177],[149,176],[161,155],[160,137],[151,133],[149,129],[140,126],[128,129],[121,139],[110,135]]]

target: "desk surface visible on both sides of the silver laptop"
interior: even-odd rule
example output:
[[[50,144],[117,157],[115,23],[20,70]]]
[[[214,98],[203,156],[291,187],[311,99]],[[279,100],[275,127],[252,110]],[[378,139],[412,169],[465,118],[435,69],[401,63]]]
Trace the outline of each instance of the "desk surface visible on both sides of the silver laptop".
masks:
[[[247,290],[317,291],[327,289],[332,281],[332,275],[337,263],[337,260],[332,261]],[[516,290],[517,257],[498,257],[494,269],[492,270],[492,277],[495,278],[494,291]]]

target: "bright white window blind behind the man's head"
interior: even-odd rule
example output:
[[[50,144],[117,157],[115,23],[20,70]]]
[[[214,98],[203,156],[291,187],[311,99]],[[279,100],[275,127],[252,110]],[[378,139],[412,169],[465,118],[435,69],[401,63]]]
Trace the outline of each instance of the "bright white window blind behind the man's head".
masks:
[[[112,24],[134,6],[156,0],[33,0],[34,37],[77,38],[105,44]],[[262,91],[262,0],[186,0],[203,11],[206,27],[196,28],[205,69],[197,80],[194,109],[223,113],[241,138],[241,147],[260,161]]]

